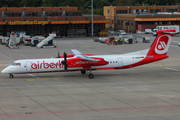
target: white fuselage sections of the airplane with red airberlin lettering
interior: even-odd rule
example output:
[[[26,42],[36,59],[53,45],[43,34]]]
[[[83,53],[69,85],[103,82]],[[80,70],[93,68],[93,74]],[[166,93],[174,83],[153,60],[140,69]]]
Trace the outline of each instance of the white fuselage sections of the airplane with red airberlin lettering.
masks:
[[[107,65],[92,66],[92,70],[103,68],[118,68],[123,66],[135,64],[146,57],[148,50],[117,55],[97,55],[91,57],[103,58],[108,62]],[[71,59],[71,58],[67,58]],[[63,72],[64,66],[61,62],[64,58],[50,58],[50,59],[25,59],[17,60],[12,65],[6,67],[2,73],[21,74],[21,73],[44,73],[44,72]],[[83,67],[68,67],[68,71],[83,70]]]

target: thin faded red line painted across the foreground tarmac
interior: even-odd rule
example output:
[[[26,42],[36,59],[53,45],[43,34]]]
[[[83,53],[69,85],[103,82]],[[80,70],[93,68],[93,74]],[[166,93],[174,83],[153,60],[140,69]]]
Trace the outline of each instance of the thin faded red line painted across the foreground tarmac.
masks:
[[[27,113],[27,114],[5,114],[2,116],[23,116],[23,115],[42,115],[42,114],[59,114],[59,113],[86,113],[86,112],[103,112],[103,111],[120,111],[120,110],[145,110],[145,109],[161,109],[161,108],[179,108],[180,106],[164,106],[164,107],[145,107],[145,108],[122,108],[122,109],[105,109],[105,110],[85,110],[85,111],[65,111],[65,112],[47,112],[47,113]]]

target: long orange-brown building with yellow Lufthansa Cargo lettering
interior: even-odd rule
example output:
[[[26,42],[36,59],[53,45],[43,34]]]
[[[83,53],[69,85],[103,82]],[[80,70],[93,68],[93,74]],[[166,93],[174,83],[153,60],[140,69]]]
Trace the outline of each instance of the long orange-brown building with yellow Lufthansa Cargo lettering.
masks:
[[[94,35],[105,29],[105,16],[94,16]],[[27,35],[56,32],[57,36],[91,36],[91,16],[77,7],[7,7],[0,8],[0,35],[26,31]]]

